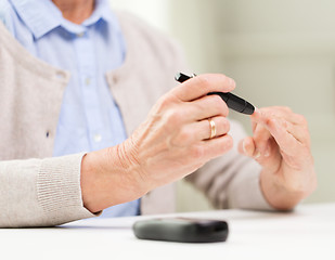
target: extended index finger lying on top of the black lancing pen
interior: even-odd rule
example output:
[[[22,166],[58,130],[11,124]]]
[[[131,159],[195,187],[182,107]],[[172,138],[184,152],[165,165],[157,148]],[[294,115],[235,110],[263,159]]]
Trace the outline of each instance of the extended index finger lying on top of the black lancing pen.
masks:
[[[204,74],[191,78],[172,90],[179,100],[188,102],[197,100],[209,92],[230,92],[235,81],[222,74]]]

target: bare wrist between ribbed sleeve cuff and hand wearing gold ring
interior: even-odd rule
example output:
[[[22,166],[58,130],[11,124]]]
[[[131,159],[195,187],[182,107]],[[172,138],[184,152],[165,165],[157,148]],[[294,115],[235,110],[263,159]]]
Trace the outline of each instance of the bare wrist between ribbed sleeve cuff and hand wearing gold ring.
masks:
[[[138,178],[138,164],[128,157],[127,142],[83,156],[81,193],[83,206],[91,212],[134,200],[146,193]]]

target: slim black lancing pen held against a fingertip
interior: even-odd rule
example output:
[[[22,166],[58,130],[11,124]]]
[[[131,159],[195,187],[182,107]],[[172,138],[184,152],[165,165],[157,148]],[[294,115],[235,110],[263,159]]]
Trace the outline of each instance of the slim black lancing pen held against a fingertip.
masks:
[[[179,73],[176,75],[175,79],[182,83],[184,81],[186,81],[190,78],[195,77],[195,75],[193,74],[192,76],[188,76],[184,75],[182,73]],[[242,114],[246,114],[246,115],[253,115],[255,112],[255,107],[247,101],[241,99],[237,95],[234,95],[232,93],[223,93],[223,92],[209,92],[209,95],[211,94],[217,94],[219,95],[227,104],[227,106],[235,112],[240,112]]]

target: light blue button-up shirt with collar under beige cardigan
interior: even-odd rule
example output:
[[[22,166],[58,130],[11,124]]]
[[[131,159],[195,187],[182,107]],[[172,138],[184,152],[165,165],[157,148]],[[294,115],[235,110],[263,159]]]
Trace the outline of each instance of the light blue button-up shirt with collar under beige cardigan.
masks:
[[[107,0],[96,0],[94,12],[81,25],[63,18],[51,0],[1,1],[5,6],[2,20],[13,36],[33,55],[72,74],[53,155],[96,151],[123,142],[125,126],[105,73],[124,63],[126,48]],[[138,212],[139,200],[134,200],[106,209],[102,216]]]

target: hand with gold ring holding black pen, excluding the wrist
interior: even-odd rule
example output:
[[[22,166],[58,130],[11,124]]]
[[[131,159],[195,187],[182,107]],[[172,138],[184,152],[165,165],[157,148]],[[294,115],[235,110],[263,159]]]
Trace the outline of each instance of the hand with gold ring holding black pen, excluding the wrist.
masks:
[[[203,75],[162,96],[147,119],[132,134],[124,155],[138,166],[149,190],[179,180],[232,148],[228,107],[214,89],[231,91],[234,81],[223,75]],[[209,140],[208,119],[217,135]]]

